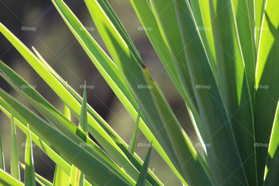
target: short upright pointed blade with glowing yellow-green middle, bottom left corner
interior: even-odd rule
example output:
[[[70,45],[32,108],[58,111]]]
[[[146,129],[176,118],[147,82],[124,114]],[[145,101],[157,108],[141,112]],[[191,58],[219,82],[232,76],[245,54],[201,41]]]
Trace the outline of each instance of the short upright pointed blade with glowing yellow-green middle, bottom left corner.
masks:
[[[33,160],[33,146],[29,126],[27,124],[28,133],[25,143],[25,171],[24,171],[24,185],[36,186],[35,167]]]

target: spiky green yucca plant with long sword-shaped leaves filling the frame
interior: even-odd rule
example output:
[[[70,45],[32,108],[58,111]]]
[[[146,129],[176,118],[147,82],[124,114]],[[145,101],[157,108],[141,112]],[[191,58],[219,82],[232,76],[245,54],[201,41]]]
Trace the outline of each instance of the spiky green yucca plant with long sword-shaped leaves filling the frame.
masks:
[[[53,5],[135,119],[129,145],[33,48],[3,24],[12,43],[65,104],[61,113],[3,62],[1,76],[45,121],[0,89],[11,117],[11,174],[1,149],[0,185],[164,185],[134,152],[140,129],[183,185],[279,185],[279,1],[130,0],[182,96],[199,143],[193,144],[107,0],[85,0],[109,55],[62,0]],[[70,113],[79,119],[71,122]],[[27,135],[20,180],[17,125]],[[29,125],[29,126],[28,126]],[[90,133],[98,145],[88,136]],[[35,174],[32,141],[55,163],[53,183]],[[1,145],[0,145],[1,147]],[[101,149],[105,149],[103,151]]]

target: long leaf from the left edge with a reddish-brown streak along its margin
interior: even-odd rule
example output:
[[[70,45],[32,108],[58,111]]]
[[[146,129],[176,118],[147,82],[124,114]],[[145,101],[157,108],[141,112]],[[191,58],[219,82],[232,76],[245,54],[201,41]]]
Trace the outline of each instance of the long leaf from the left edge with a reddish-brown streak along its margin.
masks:
[[[3,63],[0,63],[1,69],[5,73],[1,73],[1,76],[8,81],[8,83],[19,91],[26,100],[28,100],[35,108],[37,108],[44,117],[46,117],[54,126],[56,126],[62,133],[70,137],[76,143],[84,145],[86,142],[87,145],[85,148],[96,158],[100,158],[103,162],[108,162],[108,165],[115,171],[122,174],[127,179],[130,179],[128,175],[99,147],[97,146],[86,134],[71,123],[67,118],[63,117],[50,103],[47,102],[40,94],[38,94],[31,86],[24,81],[20,76],[15,74],[10,68],[8,68]],[[9,76],[12,76],[15,81],[12,81]],[[23,89],[21,87],[26,87]],[[31,97],[33,96],[33,97]],[[137,169],[128,169],[127,163],[124,164],[126,171],[130,175],[137,178],[139,172]],[[130,171],[132,170],[132,171]]]

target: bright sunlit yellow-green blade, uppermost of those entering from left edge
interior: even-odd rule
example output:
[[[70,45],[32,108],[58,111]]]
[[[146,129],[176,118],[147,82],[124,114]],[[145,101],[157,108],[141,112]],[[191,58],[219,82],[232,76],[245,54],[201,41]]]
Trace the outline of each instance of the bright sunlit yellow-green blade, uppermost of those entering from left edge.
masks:
[[[14,44],[14,46],[18,49],[18,51],[22,54],[22,56],[24,56],[24,58],[26,58],[26,60],[38,72],[38,74],[40,74],[40,76],[44,80],[46,80],[47,83],[49,83],[51,88],[58,94],[58,96],[60,96],[60,98],[63,98],[63,101],[67,104],[67,106],[69,106],[69,108],[71,108],[72,112],[75,115],[79,115],[80,110],[81,110],[81,104],[78,103],[78,101],[74,100],[73,96],[67,91],[67,89],[65,87],[62,86],[62,84],[59,81],[57,81],[57,79],[48,71],[48,69],[41,64],[40,60],[36,56],[34,56],[34,54],[31,53],[31,51],[29,49],[27,49],[22,44],[22,42],[20,42],[14,35],[12,35],[12,33],[10,33],[10,31],[8,31],[2,24],[0,24],[0,31],[10,40],[10,42],[12,42]],[[17,89],[18,88],[19,87],[17,87]],[[25,98],[28,99],[28,101],[31,101],[33,104],[36,104],[37,109],[40,108],[40,109],[43,109],[44,111],[46,111],[44,113],[47,114],[48,117],[54,117],[53,113],[57,114],[57,115],[55,115],[55,117],[60,117],[60,114],[58,114],[56,111],[52,112],[53,106],[51,106],[51,108],[50,108],[51,111],[48,112],[47,110],[49,109],[49,107],[44,107],[41,104],[38,104],[38,102],[40,103],[40,100],[35,101],[34,99],[31,99],[30,96],[28,98],[26,96]],[[52,113],[50,113],[50,112],[52,112]],[[134,167],[134,165],[130,162],[130,160],[126,157],[126,154],[124,154],[124,152],[121,151],[119,146],[117,146],[117,144],[106,133],[106,131],[99,125],[99,123],[95,120],[95,118],[93,118],[89,114],[87,114],[87,115],[88,115],[88,123],[90,124],[90,128],[89,128],[90,133],[105,148],[105,150],[107,150],[111,155],[113,155],[114,159],[117,160],[117,162],[120,163],[122,165],[122,167],[125,167],[125,169],[127,171],[130,171],[130,175],[136,179],[139,175],[139,171],[137,169],[140,169],[140,167],[141,167],[139,162],[135,162],[135,163],[137,163],[135,166],[138,167],[136,169]],[[63,119],[63,117],[61,119]],[[97,117],[96,119],[99,119],[99,118]],[[51,121],[53,121],[53,120],[51,120]],[[53,123],[56,123],[56,122],[61,123],[58,120],[53,121]],[[67,123],[68,121],[64,119],[64,122]],[[59,125],[59,127],[65,128],[63,125]],[[75,127],[75,126],[73,126],[73,127]],[[74,130],[76,130],[76,129],[74,128]],[[64,132],[64,129],[62,131]],[[65,130],[65,132],[69,132],[69,131]],[[68,133],[68,135],[72,135],[72,133]],[[75,138],[76,138],[76,136],[75,136]],[[88,138],[88,137],[87,137],[87,139],[90,140],[90,138]],[[92,147],[92,148],[94,148],[94,147]],[[128,149],[127,149],[127,151],[128,151]],[[101,153],[101,149],[99,149],[99,152]],[[123,172],[123,170],[120,170],[120,172],[122,172],[122,174],[125,174]],[[152,181],[152,184],[159,184],[159,185],[161,184],[160,181],[158,180],[158,178],[156,178],[156,176],[151,171],[149,171],[149,174],[151,174],[151,175],[149,175],[148,178],[150,178],[150,181]],[[125,176],[127,176],[127,175],[125,175]]]

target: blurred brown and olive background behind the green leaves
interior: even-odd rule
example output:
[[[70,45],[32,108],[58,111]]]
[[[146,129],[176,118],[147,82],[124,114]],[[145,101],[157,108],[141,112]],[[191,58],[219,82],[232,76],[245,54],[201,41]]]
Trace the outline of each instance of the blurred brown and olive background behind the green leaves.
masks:
[[[186,133],[194,144],[197,143],[185,103],[169,78],[145,32],[138,30],[140,22],[130,1],[108,1],[133,40],[135,47],[139,51],[146,66],[149,68],[151,75],[155,81],[158,82]],[[97,29],[95,29],[85,3],[83,1],[73,0],[65,0],[65,3],[75,13],[78,19],[80,19],[84,26],[92,28],[89,31],[90,34],[100,44],[103,50],[107,52]],[[87,89],[88,103],[108,124],[110,124],[110,126],[112,126],[126,143],[129,143],[135,122],[83,51],[50,0],[0,0],[0,22],[29,49],[31,49],[32,46],[35,47],[53,69],[78,93],[82,94],[83,90],[80,89],[80,85],[82,85],[84,81],[86,81],[87,85],[94,85],[93,89]],[[27,29],[24,30],[24,27]],[[28,27],[30,29],[28,29]],[[2,34],[0,34],[0,41],[0,59],[28,81],[28,83],[36,86],[36,90],[62,112],[63,103],[59,97],[42,78],[39,77],[28,62],[26,62]],[[1,88],[27,105],[34,112],[38,113],[23,97],[13,90],[3,78],[0,78],[0,85]],[[74,116],[72,116],[72,118],[73,122],[78,124]],[[0,111],[0,128],[5,166],[6,170],[10,171],[10,119],[3,114],[2,111]],[[24,147],[21,144],[25,142],[26,136],[17,127],[16,132],[19,161],[24,162]],[[141,132],[139,132],[138,138],[137,143],[148,143]],[[144,159],[147,148],[148,147],[137,146],[135,152]],[[36,172],[49,181],[53,181],[55,163],[38,147],[34,147],[33,154]],[[149,167],[151,169],[154,168],[155,174],[165,185],[182,185],[162,158],[160,158],[155,149],[152,150]],[[24,172],[22,169],[21,177],[24,179]]]

